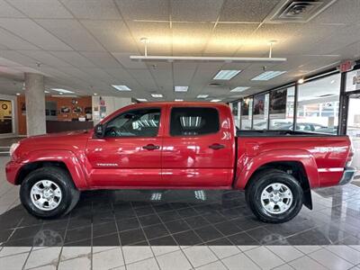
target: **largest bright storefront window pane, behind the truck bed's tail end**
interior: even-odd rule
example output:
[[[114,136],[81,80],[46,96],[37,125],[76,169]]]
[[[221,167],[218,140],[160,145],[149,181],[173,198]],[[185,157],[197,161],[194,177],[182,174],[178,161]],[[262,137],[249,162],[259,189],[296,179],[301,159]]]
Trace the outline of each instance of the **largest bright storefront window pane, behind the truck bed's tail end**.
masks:
[[[338,134],[340,74],[299,85],[296,130]]]

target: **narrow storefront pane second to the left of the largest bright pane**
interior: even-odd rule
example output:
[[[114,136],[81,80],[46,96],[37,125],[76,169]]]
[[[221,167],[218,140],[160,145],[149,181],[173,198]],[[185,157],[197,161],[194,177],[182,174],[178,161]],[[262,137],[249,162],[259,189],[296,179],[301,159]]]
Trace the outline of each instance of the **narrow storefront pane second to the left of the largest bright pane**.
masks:
[[[253,130],[267,130],[267,115],[269,113],[269,94],[254,96]]]

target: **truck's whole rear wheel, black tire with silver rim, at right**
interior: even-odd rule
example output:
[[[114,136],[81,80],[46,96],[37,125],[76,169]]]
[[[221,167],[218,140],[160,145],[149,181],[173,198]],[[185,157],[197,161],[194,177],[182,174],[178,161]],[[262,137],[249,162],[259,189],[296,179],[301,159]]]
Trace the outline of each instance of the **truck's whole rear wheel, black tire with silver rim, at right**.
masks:
[[[247,204],[259,220],[281,223],[302,210],[302,186],[284,171],[269,169],[256,175],[247,186]]]

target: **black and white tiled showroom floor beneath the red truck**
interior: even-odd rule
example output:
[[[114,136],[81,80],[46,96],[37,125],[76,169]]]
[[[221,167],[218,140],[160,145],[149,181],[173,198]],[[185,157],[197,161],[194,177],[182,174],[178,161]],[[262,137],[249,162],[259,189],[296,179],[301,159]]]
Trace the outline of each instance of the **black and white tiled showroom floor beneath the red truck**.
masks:
[[[32,218],[0,157],[1,269],[360,269],[360,188],[313,192],[284,224],[243,193],[97,191],[58,220]],[[357,266],[357,267],[356,267]]]

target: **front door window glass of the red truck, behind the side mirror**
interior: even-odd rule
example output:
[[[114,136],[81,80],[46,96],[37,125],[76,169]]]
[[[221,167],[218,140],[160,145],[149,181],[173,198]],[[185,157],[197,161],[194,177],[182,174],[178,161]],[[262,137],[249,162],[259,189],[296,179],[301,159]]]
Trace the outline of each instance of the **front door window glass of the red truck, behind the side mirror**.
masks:
[[[140,109],[121,113],[109,121],[105,137],[155,137],[160,109]]]

